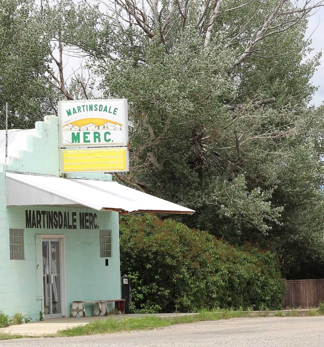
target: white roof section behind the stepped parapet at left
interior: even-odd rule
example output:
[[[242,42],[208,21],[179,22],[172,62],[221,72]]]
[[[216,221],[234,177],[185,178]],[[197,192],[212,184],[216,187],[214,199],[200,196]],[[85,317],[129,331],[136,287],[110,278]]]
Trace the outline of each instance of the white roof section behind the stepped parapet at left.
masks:
[[[27,136],[35,134],[35,129],[8,130],[8,157],[19,157],[19,150],[27,150]],[[0,130],[0,163],[6,160],[6,130]]]

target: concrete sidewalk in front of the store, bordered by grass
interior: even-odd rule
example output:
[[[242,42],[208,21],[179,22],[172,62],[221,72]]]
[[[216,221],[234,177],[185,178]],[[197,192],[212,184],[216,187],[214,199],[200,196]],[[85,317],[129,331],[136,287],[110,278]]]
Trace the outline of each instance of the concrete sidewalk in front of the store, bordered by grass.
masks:
[[[96,316],[96,317],[85,317],[85,318],[51,318],[45,319],[41,322],[29,322],[27,324],[11,325],[7,328],[1,328],[0,332],[10,333],[12,335],[29,335],[37,336],[44,334],[54,334],[58,330],[63,330],[67,328],[77,327],[78,325],[85,325],[89,322],[97,320],[105,320],[108,318],[122,319],[122,318],[142,318],[146,316],[156,316],[163,318],[174,318],[178,316],[188,316],[196,313],[156,313],[156,314],[127,314],[127,315],[111,315],[111,316]]]

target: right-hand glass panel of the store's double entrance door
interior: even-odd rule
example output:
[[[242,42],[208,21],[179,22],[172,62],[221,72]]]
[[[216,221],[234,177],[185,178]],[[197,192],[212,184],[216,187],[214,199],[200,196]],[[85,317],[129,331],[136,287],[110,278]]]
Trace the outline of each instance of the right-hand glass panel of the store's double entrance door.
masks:
[[[52,314],[61,313],[59,241],[51,241]]]

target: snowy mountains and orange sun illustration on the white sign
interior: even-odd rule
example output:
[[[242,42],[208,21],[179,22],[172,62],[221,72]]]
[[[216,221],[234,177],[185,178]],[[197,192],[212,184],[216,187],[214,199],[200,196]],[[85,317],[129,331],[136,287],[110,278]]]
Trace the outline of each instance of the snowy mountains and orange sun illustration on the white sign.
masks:
[[[98,129],[122,130],[122,124],[103,118],[85,118],[63,125],[63,131],[66,132],[84,130],[95,131]]]

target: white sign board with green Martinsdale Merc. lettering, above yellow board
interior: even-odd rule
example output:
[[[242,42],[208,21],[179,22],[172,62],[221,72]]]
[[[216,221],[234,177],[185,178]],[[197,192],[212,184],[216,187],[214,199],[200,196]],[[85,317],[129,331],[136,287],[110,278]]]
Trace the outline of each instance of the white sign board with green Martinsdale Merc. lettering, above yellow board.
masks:
[[[60,146],[127,146],[127,99],[59,102]]]

